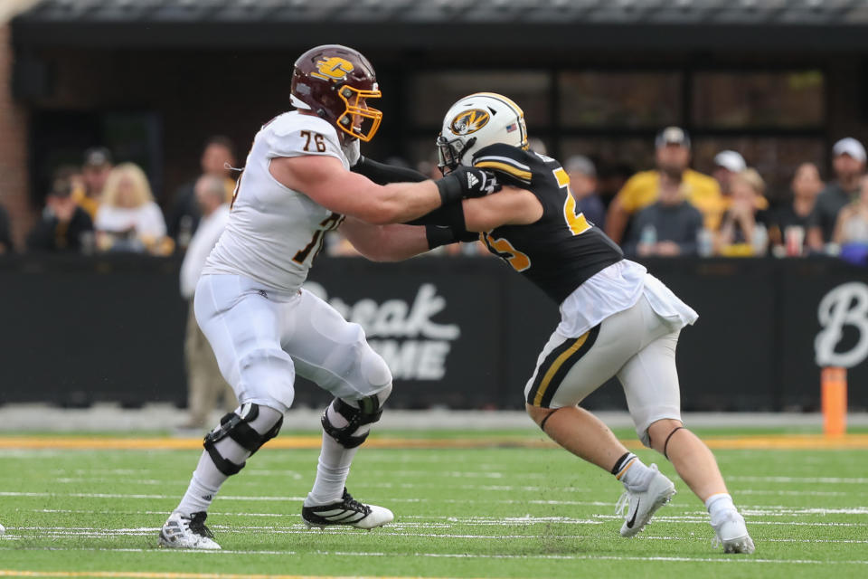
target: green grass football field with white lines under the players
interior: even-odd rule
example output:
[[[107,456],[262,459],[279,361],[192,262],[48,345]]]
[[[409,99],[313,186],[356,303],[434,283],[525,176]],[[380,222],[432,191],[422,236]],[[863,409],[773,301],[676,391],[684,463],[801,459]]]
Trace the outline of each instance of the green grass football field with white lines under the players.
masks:
[[[868,576],[865,447],[715,450],[757,545],[754,555],[723,555],[712,549],[703,505],[652,451],[637,453],[660,464],[678,494],[642,535],[624,539],[613,512],[620,485],[565,451],[539,447],[539,432],[388,432],[377,440],[425,435],[470,443],[357,455],[349,489],[396,515],[372,532],[304,527],[301,502],[318,452],[267,446],[212,506],[208,523],[223,547],[215,553],[156,547],[198,451],[7,443],[0,576]]]

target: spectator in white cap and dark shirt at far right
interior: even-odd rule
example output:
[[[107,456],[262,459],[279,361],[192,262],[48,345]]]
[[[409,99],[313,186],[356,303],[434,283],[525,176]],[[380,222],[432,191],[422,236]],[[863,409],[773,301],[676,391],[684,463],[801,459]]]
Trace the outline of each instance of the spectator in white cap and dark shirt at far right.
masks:
[[[832,147],[832,156],[835,181],[817,196],[814,212],[808,220],[807,244],[816,252],[832,241],[838,212],[854,201],[865,173],[865,147],[856,139],[839,140]]]

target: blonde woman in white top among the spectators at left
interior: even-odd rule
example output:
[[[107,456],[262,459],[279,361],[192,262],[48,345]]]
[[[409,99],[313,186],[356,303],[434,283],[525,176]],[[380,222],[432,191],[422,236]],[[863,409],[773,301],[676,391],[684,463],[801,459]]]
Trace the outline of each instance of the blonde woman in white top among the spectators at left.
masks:
[[[163,214],[145,172],[132,163],[111,170],[94,226],[101,251],[165,253]]]

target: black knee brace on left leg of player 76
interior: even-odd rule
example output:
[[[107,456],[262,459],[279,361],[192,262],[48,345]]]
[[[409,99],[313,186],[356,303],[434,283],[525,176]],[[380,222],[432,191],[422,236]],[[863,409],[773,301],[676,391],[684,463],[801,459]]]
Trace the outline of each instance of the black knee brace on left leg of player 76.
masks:
[[[260,410],[261,409],[261,410]],[[256,426],[251,425],[256,422]],[[226,476],[236,474],[247,462],[238,464],[223,457],[216,444],[225,438],[235,441],[242,449],[253,454],[278,435],[283,425],[283,414],[259,404],[245,403],[235,412],[220,419],[220,426],[205,435],[205,451],[214,461],[214,466]]]

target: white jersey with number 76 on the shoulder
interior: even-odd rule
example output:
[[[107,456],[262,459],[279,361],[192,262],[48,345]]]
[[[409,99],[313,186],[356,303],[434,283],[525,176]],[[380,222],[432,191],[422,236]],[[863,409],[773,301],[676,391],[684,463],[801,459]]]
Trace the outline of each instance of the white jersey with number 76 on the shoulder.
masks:
[[[344,168],[350,166],[337,131],[324,119],[292,111],[259,129],[235,189],[229,223],[203,275],[241,275],[279,291],[301,287],[325,233],[344,219],[271,176],[271,159],[306,155],[335,157]]]

